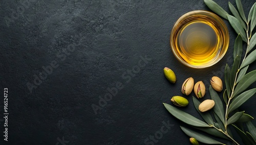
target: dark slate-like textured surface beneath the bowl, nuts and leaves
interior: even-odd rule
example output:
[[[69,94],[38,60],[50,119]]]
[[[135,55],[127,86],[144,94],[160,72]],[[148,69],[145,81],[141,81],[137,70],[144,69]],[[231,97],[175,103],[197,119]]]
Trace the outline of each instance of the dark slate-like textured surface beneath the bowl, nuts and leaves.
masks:
[[[228,11],[228,1],[216,2]],[[242,1],[246,15],[254,2]],[[224,20],[230,33],[225,57],[205,69],[182,65],[170,52],[169,34],[175,21],[192,10],[209,9],[196,0],[1,1],[0,84],[2,91],[9,90],[8,143],[144,144],[162,122],[169,122],[172,127],[155,144],[189,144],[180,129],[184,124],[162,103],[182,95],[188,77],[204,81],[207,88],[212,76],[223,79],[237,37]],[[139,66],[142,57],[148,60]],[[51,63],[55,68],[35,85],[36,76]],[[164,67],[175,71],[176,84],[165,79]],[[255,68],[254,63],[249,69]],[[129,74],[132,69],[136,74]],[[32,92],[28,83],[36,86]],[[108,88],[120,83],[117,94],[102,102]],[[192,101],[191,95],[187,98]],[[7,143],[3,102],[2,95],[0,144]],[[92,105],[99,102],[95,114]],[[251,99],[242,109],[255,117],[255,103]],[[182,110],[200,118],[193,103]]]

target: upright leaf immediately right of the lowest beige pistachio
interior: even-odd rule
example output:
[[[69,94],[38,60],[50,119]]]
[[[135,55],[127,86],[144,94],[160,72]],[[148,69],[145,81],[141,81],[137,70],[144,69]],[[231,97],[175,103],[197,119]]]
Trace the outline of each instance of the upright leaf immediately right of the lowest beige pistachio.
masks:
[[[224,107],[218,93],[211,87],[211,85],[210,85],[210,97],[215,102],[215,106],[213,108],[214,112],[218,115],[221,122],[224,124],[225,123]]]

